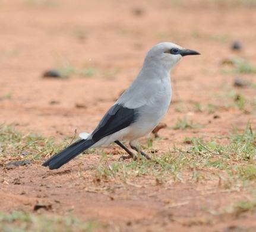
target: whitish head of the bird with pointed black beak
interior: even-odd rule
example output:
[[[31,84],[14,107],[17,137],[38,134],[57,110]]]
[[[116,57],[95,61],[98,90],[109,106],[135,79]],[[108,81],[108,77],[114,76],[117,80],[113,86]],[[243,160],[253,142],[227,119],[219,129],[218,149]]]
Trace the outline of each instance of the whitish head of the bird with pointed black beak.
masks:
[[[152,47],[146,56],[145,62],[159,64],[164,66],[168,71],[179,62],[182,56],[200,55],[199,52],[190,49],[184,49],[175,43],[163,42]]]

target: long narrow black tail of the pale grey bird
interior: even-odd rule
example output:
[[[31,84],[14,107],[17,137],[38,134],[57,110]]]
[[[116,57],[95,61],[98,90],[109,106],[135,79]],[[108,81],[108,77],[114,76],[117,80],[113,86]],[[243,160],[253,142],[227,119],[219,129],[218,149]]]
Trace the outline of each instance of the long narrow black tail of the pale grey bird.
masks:
[[[49,169],[59,169],[65,163],[75,158],[84,150],[88,149],[94,144],[91,139],[80,139],[74,144],[71,144],[69,147],[65,148],[63,151],[58,154],[53,155],[43,163],[43,166],[49,166]]]

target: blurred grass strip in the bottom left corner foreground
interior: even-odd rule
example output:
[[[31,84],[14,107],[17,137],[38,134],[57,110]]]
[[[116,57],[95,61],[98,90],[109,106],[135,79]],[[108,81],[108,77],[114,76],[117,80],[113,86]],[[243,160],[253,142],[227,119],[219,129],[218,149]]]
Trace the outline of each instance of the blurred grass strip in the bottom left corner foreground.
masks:
[[[97,221],[83,222],[74,216],[38,215],[22,211],[0,212],[0,231],[2,232],[54,232],[85,231],[92,232],[102,227]]]

